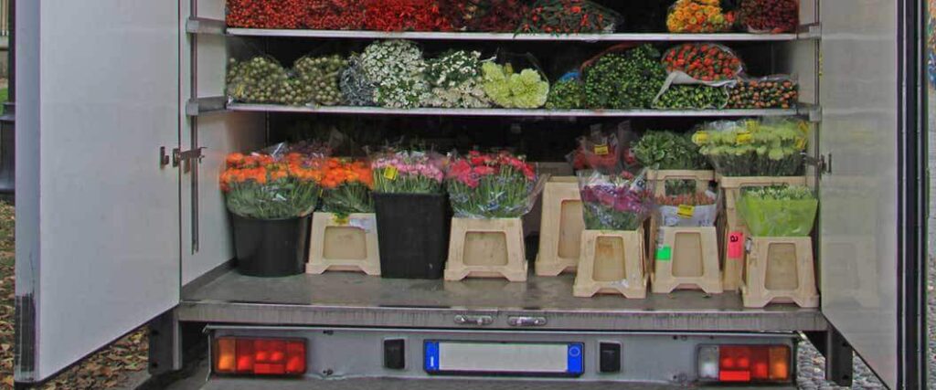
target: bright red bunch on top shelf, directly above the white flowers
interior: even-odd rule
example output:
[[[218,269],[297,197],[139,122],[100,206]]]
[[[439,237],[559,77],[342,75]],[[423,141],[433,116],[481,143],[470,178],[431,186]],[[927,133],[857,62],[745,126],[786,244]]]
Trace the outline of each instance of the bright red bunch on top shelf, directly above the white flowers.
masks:
[[[435,0],[366,0],[365,27],[375,31],[452,31]]]

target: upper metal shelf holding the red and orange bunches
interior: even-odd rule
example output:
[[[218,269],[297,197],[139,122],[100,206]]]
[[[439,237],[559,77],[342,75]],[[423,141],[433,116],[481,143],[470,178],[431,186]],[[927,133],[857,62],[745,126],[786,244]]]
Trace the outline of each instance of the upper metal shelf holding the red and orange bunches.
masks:
[[[573,42],[684,42],[684,41],[791,41],[810,39],[810,34],[513,34],[513,33],[420,33],[345,30],[272,30],[228,28],[228,36],[280,36],[338,39],[413,39],[413,40],[480,40],[480,41],[573,41]]]

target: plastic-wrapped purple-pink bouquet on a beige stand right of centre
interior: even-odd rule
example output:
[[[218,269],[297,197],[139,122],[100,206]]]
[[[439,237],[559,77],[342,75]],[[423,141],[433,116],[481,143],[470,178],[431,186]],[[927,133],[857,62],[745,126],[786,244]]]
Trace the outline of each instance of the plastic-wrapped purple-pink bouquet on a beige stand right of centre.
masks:
[[[646,171],[638,176],[626,171],[615,175],[578,172],[578,189],[589,230],[637,230],[653,211]]]

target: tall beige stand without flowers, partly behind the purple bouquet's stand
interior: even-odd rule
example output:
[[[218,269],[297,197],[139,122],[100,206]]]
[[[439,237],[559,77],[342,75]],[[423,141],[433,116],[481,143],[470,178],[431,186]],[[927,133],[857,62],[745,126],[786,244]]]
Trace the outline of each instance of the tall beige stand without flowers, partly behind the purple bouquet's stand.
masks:
[[[536,275],[557,276],[575,272],[581,252],[582,215],[578,178],[556,177],[543,190],[543,218],[539,229]]]

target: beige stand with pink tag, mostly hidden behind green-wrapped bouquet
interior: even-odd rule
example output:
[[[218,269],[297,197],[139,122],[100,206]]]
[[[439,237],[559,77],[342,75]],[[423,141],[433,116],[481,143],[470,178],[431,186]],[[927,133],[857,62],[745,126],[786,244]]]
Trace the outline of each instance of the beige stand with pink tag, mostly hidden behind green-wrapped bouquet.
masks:
[[[782,184],[806,185],[806,177],[727,177],[716,175],[715,180],[718,181],[719,188],[722,191],[722,197],[724,198],[724,219],[722,223],[719,224],[721,229],[720,236],[724,239],[722,281],[724,290],[737,291],[741,286],[741,278],[744,275],[744,253],[732,251],[732,242],[734,242],[737,247],[737,245],[744,242],[744,238],[751,236],[751,233],[748,232],[744,224],[744,220],[741,219],[738,212],[738,200],[740,198],[741,189]]]

